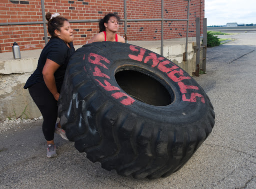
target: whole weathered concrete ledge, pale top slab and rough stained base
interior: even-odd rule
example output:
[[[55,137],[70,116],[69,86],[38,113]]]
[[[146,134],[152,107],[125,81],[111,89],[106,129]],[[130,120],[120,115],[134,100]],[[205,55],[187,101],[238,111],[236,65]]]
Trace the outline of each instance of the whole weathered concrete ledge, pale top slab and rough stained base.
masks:
[[[128,41],[128,43],[160,54],[160,41]],[[75,49],[81,46],[75,46]],[[183,61],[185,41],[165,40],[163,56],[192,75],[192,72],[195,71],[195,49],[193,46],[195,46],[195,42],[190,41],[187,47],[188,60]],[[25,114],[29,118],[41,116],[28,90],[23,88],[27,78],[37,66],[40,53],[41,49],[21,51],[21,59],[17,60],[13,59],[12,52],[0,53],[0,119],[18,117],[25,107]]]

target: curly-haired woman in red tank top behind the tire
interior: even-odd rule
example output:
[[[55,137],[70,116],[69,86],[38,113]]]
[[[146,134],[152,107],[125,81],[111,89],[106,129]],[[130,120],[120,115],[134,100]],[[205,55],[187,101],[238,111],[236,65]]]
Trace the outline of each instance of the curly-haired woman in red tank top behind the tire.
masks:
[[[99,33],[94,35],[88,43],[96,41],[116,41],[125,42],[124,38],[118,35],[116,32],[119,27],[120,18],[113,13],[106,14],[103,18],[99,19]]]

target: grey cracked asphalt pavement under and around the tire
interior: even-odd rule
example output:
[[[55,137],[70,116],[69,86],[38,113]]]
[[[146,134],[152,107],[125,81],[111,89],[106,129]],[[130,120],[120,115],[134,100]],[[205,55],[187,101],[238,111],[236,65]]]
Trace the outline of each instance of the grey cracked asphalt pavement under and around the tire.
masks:
[[[0,133],[0,189],[255,189],[256,33],[207,48],[206,74],[194,79],[214,107],[209,137],[177,172],[135,180],[86,159],[73,142],[55,136],[56,158],[46,158],[41,122]]]

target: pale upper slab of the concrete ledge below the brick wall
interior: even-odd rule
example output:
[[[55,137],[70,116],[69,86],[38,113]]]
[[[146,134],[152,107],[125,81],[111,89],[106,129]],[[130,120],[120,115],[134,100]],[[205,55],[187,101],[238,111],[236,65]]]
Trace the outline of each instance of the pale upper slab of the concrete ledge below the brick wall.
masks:
[[[149,49],[157,54],[161,51],[160,41],[128,41],[128,43]],[[193,56],[193,45],[195,42],[188,43],[188,59]],[[74,46],[75,49],[82,45]],[[21,51],[21,59],[13,59],[12,52],[0,53],[0,74],[12,73],[30,73],[37,66],[37,61],[42,49]],[[165,40],[163,45],[163,56],[176,64],[183,61],[183,52],[185,52],[184,40]],[[191,54],[192,53],[192,54]],[[182,66],[180,66],[182,68]],[[189,74],[191,72],[186,70]]]

